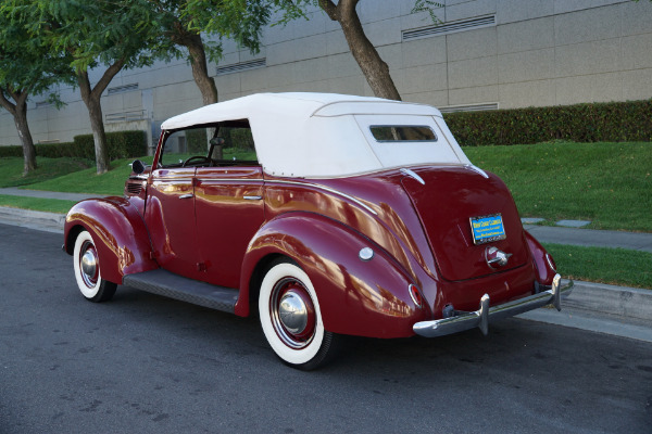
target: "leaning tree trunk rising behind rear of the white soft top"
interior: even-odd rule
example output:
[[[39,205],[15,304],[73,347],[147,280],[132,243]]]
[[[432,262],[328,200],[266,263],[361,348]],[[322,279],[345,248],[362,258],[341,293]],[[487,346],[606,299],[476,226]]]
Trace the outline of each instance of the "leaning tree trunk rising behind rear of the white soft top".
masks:
[[[351,54],[360,65],[374,94],[379,98],[401,101],[401,95],[389,74],[389,66],[383,61],[362,28],[362,23],[355,11],[358,2],[359,0],[339,0],[338,4],[335,5],[331,0],[319,0],[319,7],[328,14],[330,20],[340,24]]]

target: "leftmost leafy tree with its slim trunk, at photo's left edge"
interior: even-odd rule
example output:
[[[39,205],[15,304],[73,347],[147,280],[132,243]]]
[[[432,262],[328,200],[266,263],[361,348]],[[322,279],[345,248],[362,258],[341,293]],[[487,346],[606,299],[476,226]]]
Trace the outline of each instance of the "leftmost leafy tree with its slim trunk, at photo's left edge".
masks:
[[[36,150],[27,124],[27,99],[70,81],[65,60],[50,55],[41,41],[32,38],[20,22],[0,14],[0,105],[14,118],[23,145],[23,175],[36,169]],[[54,94],[49,98],[59,103]]]

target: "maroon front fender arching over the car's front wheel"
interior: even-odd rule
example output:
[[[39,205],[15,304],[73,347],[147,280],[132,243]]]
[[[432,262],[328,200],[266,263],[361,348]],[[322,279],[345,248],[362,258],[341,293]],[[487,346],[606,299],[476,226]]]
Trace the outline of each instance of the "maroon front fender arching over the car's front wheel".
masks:
[[[90,232],[102,278],[122,283],[125,275],[159,268],[142,217],[124,197],[89,199],[75,204],[65,217],[64,250],[70,255],[82,230]]]

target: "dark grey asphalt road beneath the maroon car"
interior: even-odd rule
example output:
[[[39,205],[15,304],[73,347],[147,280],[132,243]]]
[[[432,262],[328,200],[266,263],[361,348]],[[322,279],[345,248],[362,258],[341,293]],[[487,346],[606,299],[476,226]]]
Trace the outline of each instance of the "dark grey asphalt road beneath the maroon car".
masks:
[[[352,340],[316,372],[255,320],[120,286],[86,302],[61,235],[0,225],[0,433],[652,433],[652,344],[522,319]]]

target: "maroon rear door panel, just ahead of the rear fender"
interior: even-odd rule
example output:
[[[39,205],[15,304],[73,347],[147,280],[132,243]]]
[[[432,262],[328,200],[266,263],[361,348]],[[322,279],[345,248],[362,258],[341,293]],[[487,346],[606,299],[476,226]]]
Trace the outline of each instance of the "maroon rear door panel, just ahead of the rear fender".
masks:
[[[265,218],[263,194],[260,165],[197,168],[200,280],[239,288],[244,252]]]

